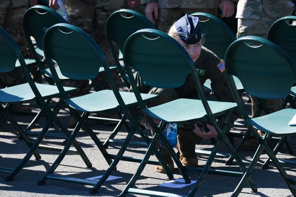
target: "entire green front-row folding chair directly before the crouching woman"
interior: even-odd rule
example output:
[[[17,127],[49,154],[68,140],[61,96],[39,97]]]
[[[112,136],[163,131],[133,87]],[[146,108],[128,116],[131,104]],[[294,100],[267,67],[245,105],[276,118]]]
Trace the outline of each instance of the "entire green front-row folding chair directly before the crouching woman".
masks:
[[[152,149],[155,147],[158,139],[164,143],[165,147],[170,152],[174,162],[183,175],[185,183],[191,182],[186,173],[187,171],[201,173],[199,179],[193,185],[193,188],[187,196],[195,195],[208,173],[243,177],[246,172],[246,167],[226,137],[226,122],[228,121],[232,110],[237,108],[237,105],[236,103],[231,102],[214,102],[206,100],[204,89],[202,88],[202,84],[198,78],[194,62],[176,40],[158,30],[139,30],[133,33],[126,41],[123,48],[123,61],[126,66],[129,79],[131,80],[131,87],[133,88],[141,111],[153,127],[155,135],[152,138],[151,144],[149,145],[139,168],[120,196],[126,196],[128,193],[146,196],[181,196],[173,193],[142,190],[133,187],[141,175],[141,172],[144,170],[144,167],[152,153]],[[187,75],[191,72],[201,100],[177,99],[162,105],[147,108],[140,96],[139,89],[137,88],[137,84],[133,78],[132,68],[139,72],[139,75],[145,84],[151,87],[160,88],[175,88],[182,86]],[[170,111],[170,113],[168,113],[168,111]],[[223,114],[227,115],[227,118],[222,127],[220,127],[216,118]],[[153,118],[161,120],[159,126],[154,123]],[[169,122],[187,124],[200,121],[209,121],[212,123],[218,132],[217,141],[204,168],[183,166],[180,158],[170,146],[165,136],[161,134],[162,130]],[[139,123],[133,126],[137,128],[139,127]],[[229,173],[230,171],[223,170],[218,172],[210,169],[213,159],[222,142],[226,145],[231,154],[234,155],[241,172]],[[257,191],[252,179],[248,179],[248,183],[253,191]]]

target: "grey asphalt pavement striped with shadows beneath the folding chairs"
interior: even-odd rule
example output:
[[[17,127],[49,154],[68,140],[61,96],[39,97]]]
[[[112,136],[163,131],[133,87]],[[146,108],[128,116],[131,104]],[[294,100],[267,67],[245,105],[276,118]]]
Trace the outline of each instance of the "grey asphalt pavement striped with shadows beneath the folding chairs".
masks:
[[[250,103],[246,103],[250,105]],[[33,112],[37,110],[32,107]],[[34,115],[22,115],[22,114],[12,114],[12,116],[19,122],[22,128],[26,128],[28,123],[34,118]],[[59,119],[68,124],[70,119],[69,111],[63,108],[59,115]],[[33,131],[40,131],[45,119],[41,119],[38,125],[36,125]],[[111,134],[114,129],[114,125],[104,125],[103,123],[88,121],[89,126],[94,130],[98,138],[103,142]],[[245,128],[235,127],[233,128],[235,132],[245,131]],[[61,133],[59,128],[54,124],[50,128],[49,133]],[[147,130],[147,134],[151,136],[150,131]],[[125,139],[127,131],[124,128],[120,130],[116,139]],[[28,152],[28,146],[23,140],[18,139],[19,135],[16,132],[15,128],[11,126],[8,121],[5,121],[0,127],[0,167],[14,168],[21,161],[21,159]],[[36,136],[30,135],[32,141],[36,139]],[[61,165],[54,172],[55,174],[68,175],[76,178],[90,178],[99,175],[103,175],[108,165],[105,159],[102,157],[102,154],[99,152],[99,149],[83,130],[77,136],[77,141],[86,152],[89,160],[92,163],[91,168],[86,168],[85,163],[82,161],[79,155],[67,154],[63,159]],[[41,144],[44,145],[53,145],[58,147],[63,147],[64,139],[62,138],[53,138],[45,137]],[[142,141],[140,135],[136,133],[133,137],[133,141]],[[292,146],[292,149],[295,152],[296,143],[294,137],[288,138],[289,144]],[[111,143],[107,151],[111,154],[116,154],[120,148],[120,144]],[[211,150],[213,145],[210,140],[204,140],[202,144],[196,146],[199,150]],[[125,152],[125,156],[138,157],[142,158],[145,154],[146,147],[142,146],[129,146]],[[58,156],[57,152],[38,150],[41,155],[40,160],[35,160],[32,157],[25,167],[20,170],[20,172],[15,176],[13,181],[6,182],[5,177],[8,175],[6,173],[0,173],[0,196],[46,196],[46,197],[66,197],[66,196],[118,196],[121,191],[125,188],[126,184],[129,182],[133,174],[136,172],[138,163],[120,161],[117,165],[117,170],[112,172],[112,176],[122,177],[115,180],[106,181],[101,188],[99,188],[99,193],[90,194],[92,186],[82,185],[78,183],[69,183],[64,181],[57,180],[47,180],[46,184],[43,186],[38,186],[37,182],[44,175],[46,170],[53,164],[55,159]],[[221,145],[219,152],[228,153],[224,144]],[[289,159],[295,161],[295,154],[289,155],[286,154],[287,150],[283,147],[278,154],[278,157],[281,159]],[[252,156],[255,154],[255,151],[241,151],[239,153],[244,164],[248,166]],[[202,167],[207,161],[205,155],[198,155],[199,165]],[[240,193],[240,197],[257,197],[257,196],[268,196],[268,197],[284,197],[292,196],[287,185],[284,183],[284,180],[281,178],[278,170],[274,167],[273,164],[270,165],[268,170],[261,169],[261,165],[267,158],[267,155],[263,153],[261,155],[258,164],[256,165],[252,179],[255,182],[255,185],[258,188],[258,192],[252,193],[249,185],[245,185],[244,189]],[[151,156],[151,159],[154,159]],[[233,170],[238,171],[239,168],[234,162],[233,166],[226,166],[225,161],[227,158],[216,158],[214,159],[211,169],[215,170]],[[176,167],[176,165],[175,165]],[[285,170],[287,173],[295,179],[296,172],[294,166],[285,165]],[[197,180],[200,173],[188,172],[191,180]],[[174,179],[182,178],[180,172],[176,168],[174,173]],[[166,188],[159,187],[161,183],[169,181],[165,174],[157,173],[154,169],[154,165],[147,165],[144,168],[143,173],[141,174],[139,180],[136,182],[134,188],[145,188],[147,190],[153,191],[163,191],[176,193],[181,195],[187,195],[192,188],[191,185],[188,185],[184,188]],[[210,175],[208,174],[205,177],[205,180],[201,184],[199,190],[195,196],[213,196],[213,197],[227,197],[231,196],[232,192],[239,183],[240,178],[234,177],[225,177],[220,175]],[[128,194],[127,196],[140,196]]]

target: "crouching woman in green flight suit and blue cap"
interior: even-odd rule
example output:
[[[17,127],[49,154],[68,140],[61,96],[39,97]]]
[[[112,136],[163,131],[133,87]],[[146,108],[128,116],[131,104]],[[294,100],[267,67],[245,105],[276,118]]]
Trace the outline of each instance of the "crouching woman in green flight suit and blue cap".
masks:
[[[191,17],[186,14],[170,27],[168,35],[177,40],[189,53],[195,63],[201,83],[204,84],[207,78],[211,80],[211,87],[214,94],[210,95],[205,92],[208,100],[235,102],[224,72],[224,61],[219,59],[212,51],[202,46],[203,38],[198,23],[198,17]],[[194,80],[190,74],[187,76],[183,86],[172,89],[149,87],[143,83],[138,73],[135,77],[137,86],[142,93],[157,94],[160,96],[156,101],[149,102],[148,107],[160,105],[178,98],[199,99]],[[130,89],[130,91],[132,91],[132,89]],[[232,113],[230,120],[227,123],[228,131],[230,131],[234,121],[237,120],[238,117],[238,111]],[[220,117],[218,123],[221,122],[222,125],[224,120],[225,117]],[[160,123],[159,120],[155,120],[155,122]],[[151,126],[147,123],[145,117],[143,117],[140,124],[151,129]],[[207,126],[211,129],[208,133],[200,131],[200,128],[198,128],[197,125],[194,125],[194,123],[185,124],[182,128],[177,137],[177,149],[180,152],[180,159],[183,165],[197,167],[198,159],[197,154],[195,153],[195,145],[200,144],[203,139],[217,136],[217,132],[213,126]],[[152,131],[152,135],[153,134],[154,132]],[[168,167],[173,172],[174,165],[170,154],[165,148],[160,146],[158,148]],[[155,170],[164,173],[162,166],[155,166]]]

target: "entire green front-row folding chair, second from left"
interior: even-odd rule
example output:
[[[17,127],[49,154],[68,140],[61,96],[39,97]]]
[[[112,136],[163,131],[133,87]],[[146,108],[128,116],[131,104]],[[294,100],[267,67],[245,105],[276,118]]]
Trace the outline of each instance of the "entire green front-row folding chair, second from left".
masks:
[[[75,40],[75,42],[73,42],[73,40]],[[103,66],[107,76],[109,77],[109,82],[112,83],[113,87],[116,87],[104,53],[89,35],[73,25],[60,23],[50,27],[46,31],[44,35],[43,49],[49,69],[53,74],[55,84],[59,88],[64,102],[78,123],[74,128],[70,138],[68,139],[63,151],[57,157],[52,166],[47,170],[44,176],[38,181],[38,185],[44,185],[48,179],[61,180],[71,183],[93,185],[94,188],[91,189],[91,193],[97,193],[98,189],[109,177],[110,173],[113,170],[116,170],[116,165],[120,159],[138,163],[142,161],[142,159],[123,156],[136,129],[131,128],[131,131],[128,133],[128,136],[126,137],[126,140],[118,151],[117,155],[108,154],[96,134],[87,124],[84,124],[84,122],[90,113],[103,114],[109,112],[121,112],[123,110],[118,104],[113,91],[101,90],[75,98],[69,98],[65,93],[61,81],[55,72],[54,64],[51,60],[54,60],[59,64],[60,70],[64,76],[75,80],[93,79],[98,74],[97,71],[100,69],[100,67]],[[126,104],[126,108],[138,106],[136,97],[132,92],[122,91],[120,92],[120,95]],[[141,96],[145,102],[149,102],[157,98],[157,95],[142,94]],[[77,110],[82,111],[83,114],[79,115]],[[90,135],[94,143],[101,151],[103,157],[106,159],[107,164],[110,165],[103,177],[100,178],[98,182],[94,180],[86,180],[83,178],[53,174],[64,159],[67,150],[70,148],[81,127]],[[144,136],[144,139],[147,141],[147,143],[149,143],[149,137],[147,135]],[[163,165],[165,165],[165,162],[161,158],[159,152],[157,152],[157,149],[155,149],[154,152],[157,158],[160,159],[160,162],[163,162]],[[113,162],[112,159],[114,159]],[[151,161],[151,164],[157,165],[158,161]],[[168,167],[166,167],[166,170],[167,172],[169,171]],[[172,174],[170,174],[170,176],[172,176]]]

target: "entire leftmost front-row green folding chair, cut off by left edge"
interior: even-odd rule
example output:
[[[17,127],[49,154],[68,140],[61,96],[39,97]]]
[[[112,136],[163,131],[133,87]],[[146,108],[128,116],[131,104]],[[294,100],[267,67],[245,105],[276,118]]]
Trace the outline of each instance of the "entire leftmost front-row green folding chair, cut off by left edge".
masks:
[[[48,84],[35,84],[33,79],[30,75],[27,65],[25,64],[25,60],[22,56],[20,49],[18,48],[17,44],[14,40],[8,35],[8,33],[0,27],[0,61],[1,67],[0,72],[5,73],[12,71],[15,69],[15,62],[19,61],[20,65],[22,66],[23,72],[27,79],[27,83],[15,85],[12,87],[7,87],[0,89],[0,102],[4,104],[3,107],[0,105],[0,125],[5,123],[7,119],[12,126],[17,130],[17,132],[22,136],[25,143],[28,145],[30,150],[26,154],[26,156],[21,160],[21,162],[17,165],[15,169],[10,168],[0,168],[0,172],[8,173],[6,181],[11,181],[15,177],[15,175],[22,169],[22,167],[28,162],[30,157],[34,154],[36,160],[41,159],[40,155],[36,151],[37,148],[44,149],[44,150],[51,150],[61,152],[62,149],[53,146],[44,146],[41,145],[41,141],[44,138],[47,130],[53,123],[53,121],[59,126],[63,127],[63,124],[57,118],[57,113],[60,110],[60,105],[62,104],[62,100],[60,99],[54,110],[52,111],[49,107],[49,101],[52,98],[59,97],[60,93],[56,86],[48,85]],[[72,94],[77,92],[77,88],[72,87],[65,87],[65,91],[68,94]],[[15,105],[22,105],[26,103],[37,103],[38,106],[41,108],[41,113],[46,112],[49,116],[49,120],[46,122],[41,134],[38,136],[36,141],[32,143],[31,139],[28,138],[26,133],[23,131],[22,127],[15,121],[12,115],[10,115],[10,111],[13,106]],[[65,128],[65,126],[64,126]],[[64,129],[64,133],[66,136],[70,136],[70,132]],[[76,150],[70,150],[69,153],[72,154],[80,154],[83,160],[85,161],[86,165],[90,166],[91,163],[87,159],[85,153],[75,141],[74,146]]]

